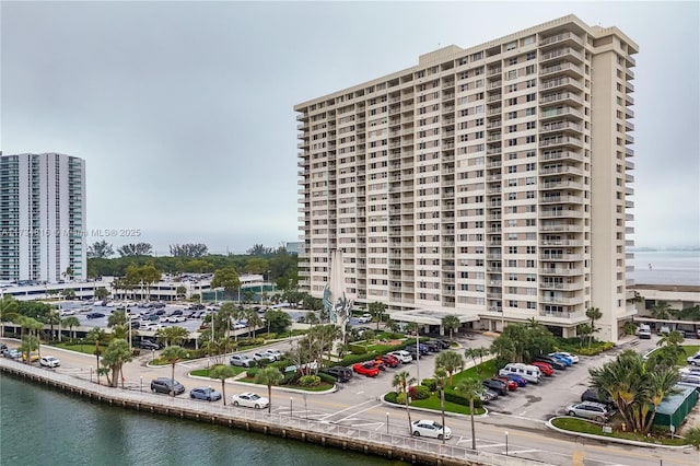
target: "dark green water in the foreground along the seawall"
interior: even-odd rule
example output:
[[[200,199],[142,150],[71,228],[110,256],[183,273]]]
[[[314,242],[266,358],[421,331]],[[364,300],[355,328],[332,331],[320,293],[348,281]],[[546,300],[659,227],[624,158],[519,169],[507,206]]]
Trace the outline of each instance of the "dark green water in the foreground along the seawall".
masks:
[[[0,465],[401,465],[114,408],[0,375]]]

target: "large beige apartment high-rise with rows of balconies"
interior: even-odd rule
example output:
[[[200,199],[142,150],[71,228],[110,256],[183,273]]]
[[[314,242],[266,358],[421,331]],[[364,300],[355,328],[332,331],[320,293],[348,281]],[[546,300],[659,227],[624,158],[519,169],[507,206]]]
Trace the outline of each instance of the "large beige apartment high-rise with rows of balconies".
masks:
[[[296,105],[302,288],[322,296],[340,248],[348,295],[398,321],[574,336],[598,307],[616,341],[637,51],[569,15]]]

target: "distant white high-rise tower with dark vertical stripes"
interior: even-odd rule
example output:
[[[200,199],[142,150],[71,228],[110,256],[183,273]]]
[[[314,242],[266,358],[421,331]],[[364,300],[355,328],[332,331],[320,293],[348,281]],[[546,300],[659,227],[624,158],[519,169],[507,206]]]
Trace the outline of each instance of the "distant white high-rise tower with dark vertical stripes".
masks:
[[[0,156],[0,281],[85,279],[85,162]]]

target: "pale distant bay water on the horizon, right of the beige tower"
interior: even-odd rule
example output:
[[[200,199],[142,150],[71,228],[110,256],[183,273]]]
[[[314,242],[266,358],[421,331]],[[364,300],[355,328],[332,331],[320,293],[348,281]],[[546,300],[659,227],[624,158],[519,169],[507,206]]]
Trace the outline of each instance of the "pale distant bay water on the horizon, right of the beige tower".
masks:
[[[700,286],[700,251],[635,252],[632,264],[635,283]]]

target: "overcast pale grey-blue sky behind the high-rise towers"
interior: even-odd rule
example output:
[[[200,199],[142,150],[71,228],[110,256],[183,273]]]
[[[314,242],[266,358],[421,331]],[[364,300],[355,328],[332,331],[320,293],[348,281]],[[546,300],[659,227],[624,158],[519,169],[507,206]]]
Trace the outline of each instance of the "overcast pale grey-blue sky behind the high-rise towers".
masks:
[[[640,46],[637,245],[699,244],[696,1],[2,1],[0,147],[85,159],[88,226],[159,254],[277,246],[299,237],[295,104],[570,13]]]

